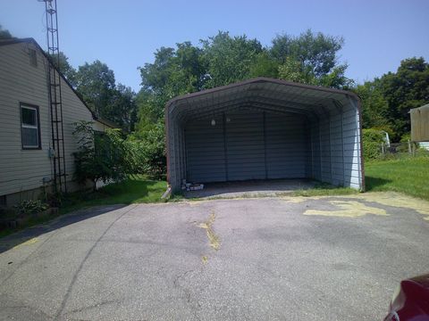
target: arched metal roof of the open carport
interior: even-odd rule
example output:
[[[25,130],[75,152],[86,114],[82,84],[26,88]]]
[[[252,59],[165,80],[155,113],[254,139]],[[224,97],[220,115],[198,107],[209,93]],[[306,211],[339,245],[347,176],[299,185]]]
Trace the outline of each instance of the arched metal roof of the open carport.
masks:
[[[260,77],[175,97],[166,104],[165,116],[168,124],[168,119],[186,122],[249,107],[320,118],[341,112],[344,106],[352,107],[350,101],[360,108],[357,95],[349,91]]]

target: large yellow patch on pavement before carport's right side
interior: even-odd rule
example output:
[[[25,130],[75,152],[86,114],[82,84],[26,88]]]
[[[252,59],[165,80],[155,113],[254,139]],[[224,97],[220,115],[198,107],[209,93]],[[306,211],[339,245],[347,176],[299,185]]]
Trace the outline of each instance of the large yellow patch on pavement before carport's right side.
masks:
[[[383,209],[367,206],[357,201],[329,201],[341,210],[306,210],[304,215],[321,215],[328,217],[358,218],[367,214],[388,216]]]

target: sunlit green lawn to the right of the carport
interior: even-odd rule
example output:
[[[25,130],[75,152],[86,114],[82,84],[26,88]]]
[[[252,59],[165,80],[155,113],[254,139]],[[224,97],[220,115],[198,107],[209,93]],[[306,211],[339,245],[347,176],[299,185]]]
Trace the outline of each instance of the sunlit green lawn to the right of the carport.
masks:
[[[429,157],[367,161],[367,192],[400,192],[429,201]]]

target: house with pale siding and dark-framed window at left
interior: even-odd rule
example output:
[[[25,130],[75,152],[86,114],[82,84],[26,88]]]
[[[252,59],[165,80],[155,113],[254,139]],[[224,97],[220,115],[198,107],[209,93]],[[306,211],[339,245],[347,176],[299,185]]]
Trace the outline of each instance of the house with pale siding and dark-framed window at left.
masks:
[[[21,199],[35,198],[41,187],[55,181],[55,150],[49,100],[49,69],[44,51],[33,38],[0,41],[0,205],[12,205]],[[58,70],[63,102],[64,152],[61,164],[68,191],[78,188],[73,182],[77,144],[72,123],[94,121],[97,130],[112,127],[96,119]],[[53,77],[53,76],[51,76]],[[60,134],[61,135],[61,134]]]

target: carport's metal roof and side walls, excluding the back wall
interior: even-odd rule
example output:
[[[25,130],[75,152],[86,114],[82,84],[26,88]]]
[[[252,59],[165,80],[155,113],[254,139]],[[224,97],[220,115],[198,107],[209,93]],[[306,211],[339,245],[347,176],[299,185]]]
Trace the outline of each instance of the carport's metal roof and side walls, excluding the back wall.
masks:
[[[269,103],[265,104],[265,100]],[[240,101],[242,106],[253,105],[266,111],[280,111],[283,107],[287,111],[288,106],[302,110],[309,119],[308,177],[365,190],[357,96],[338,89],[255,78],[179,96],[166,104],[167,180],[173,191],[180,188],[181,179],[187,176],[186,122],[194,115],[204,119],[212,113],[214,116],[228,112],[232,102],[240,108]]]

